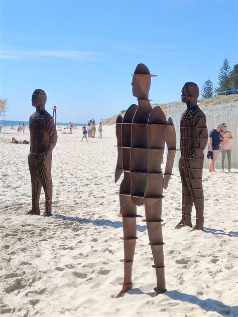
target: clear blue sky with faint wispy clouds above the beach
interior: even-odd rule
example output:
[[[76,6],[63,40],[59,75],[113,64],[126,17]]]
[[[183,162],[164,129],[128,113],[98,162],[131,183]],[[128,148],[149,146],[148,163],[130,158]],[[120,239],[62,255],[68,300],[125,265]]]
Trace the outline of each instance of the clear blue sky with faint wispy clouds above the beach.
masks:
[[[186,81],[216,86],[237,62],[236,1],[1,1],[1,92],[9,120],[28,120],[41,88],[57,121],[96,121],[127,109],[138,63],[152,103],[180,100]]]

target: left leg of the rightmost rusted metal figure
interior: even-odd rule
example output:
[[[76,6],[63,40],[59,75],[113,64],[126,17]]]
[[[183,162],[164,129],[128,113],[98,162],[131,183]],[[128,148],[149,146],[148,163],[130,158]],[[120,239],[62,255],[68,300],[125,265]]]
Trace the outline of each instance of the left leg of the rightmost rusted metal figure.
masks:
[[[193,199],[189,190],[187,178],[185,176],[185,169],[179,167],[181,182],[182,182],[182,219],[177,224],[175,229],[181,229],[184,226],[192,227],[191,213],[193,206]]]

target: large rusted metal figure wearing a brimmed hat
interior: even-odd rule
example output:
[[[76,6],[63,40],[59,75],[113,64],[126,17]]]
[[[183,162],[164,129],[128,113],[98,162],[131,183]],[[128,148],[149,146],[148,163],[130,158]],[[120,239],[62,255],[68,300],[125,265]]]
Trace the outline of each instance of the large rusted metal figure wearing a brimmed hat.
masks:
[[[161,222],[163,188],[168,187],[175,156],[176,135],[172,119],[166,121],[160,107],[152,109],[148,100],[151,85],[149,69],[138,64],[133,74],[133,95],[138,106],[132,104],[124,118],[116,120],[118,159],[115,182],[124,172],[120,187],[120,206],[124,236],[124,281],[120,297],[132,288],[132,266],[137,239],[137,207],[145,205],[148,235],[157,276],[155,295],[166,291],[164,276],[163,236]],[[168,155],[164,177],[161,171],[165,143]]]

